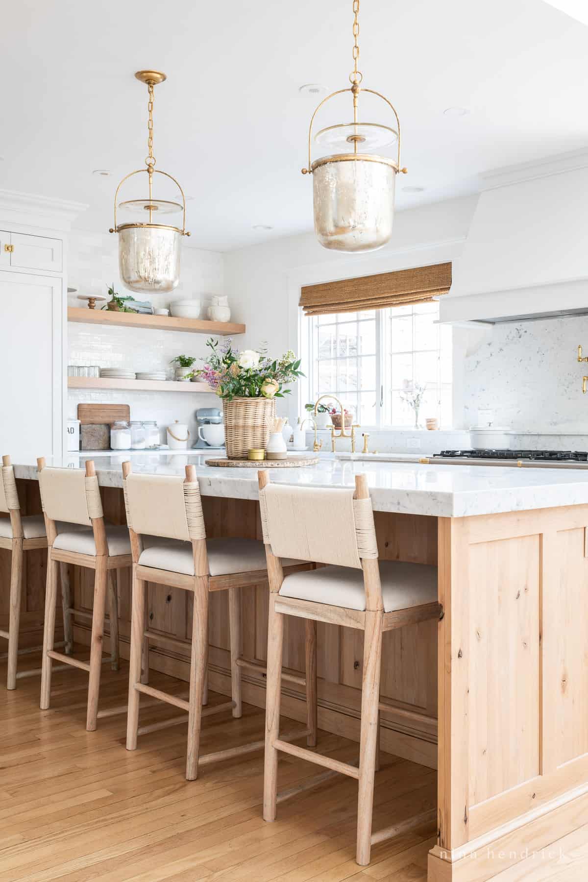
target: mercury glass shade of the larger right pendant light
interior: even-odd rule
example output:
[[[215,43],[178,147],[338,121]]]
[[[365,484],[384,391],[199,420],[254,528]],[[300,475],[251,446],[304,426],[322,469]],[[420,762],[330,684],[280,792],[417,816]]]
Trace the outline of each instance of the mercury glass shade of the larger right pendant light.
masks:
[[[396,166],[355,153],[326,156],[312,166],[316,238],[324,248],[372,251],[390,242]]]

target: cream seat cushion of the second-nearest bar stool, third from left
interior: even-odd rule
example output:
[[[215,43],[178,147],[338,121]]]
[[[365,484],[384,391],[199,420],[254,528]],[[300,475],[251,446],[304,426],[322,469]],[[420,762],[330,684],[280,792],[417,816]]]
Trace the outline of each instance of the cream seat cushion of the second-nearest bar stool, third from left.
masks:
[[[151,566],[156,570],[194,575],[191,542],[180,542],[175,539],[152,541],[154,544],[141,553],[139,564]],[[227,576],[233,572],[254,572],[264,570],[266,567],[264,543],[257,539],[207,539],[206,551],[211,576]],[[301,562],[295,560],[282,561],[285,566],[299,563]]]

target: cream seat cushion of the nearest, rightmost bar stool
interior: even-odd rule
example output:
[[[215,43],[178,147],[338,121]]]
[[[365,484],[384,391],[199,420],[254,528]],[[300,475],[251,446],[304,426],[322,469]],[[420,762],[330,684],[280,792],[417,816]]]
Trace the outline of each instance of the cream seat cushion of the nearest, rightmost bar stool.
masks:
[[[437,599],[436,566],[381,560],[380,579],[384,612],[421,606]],[[346,609],[363,611],[366,608],[363,571],[346,566],[294,572],[284,579],[279,594]]]

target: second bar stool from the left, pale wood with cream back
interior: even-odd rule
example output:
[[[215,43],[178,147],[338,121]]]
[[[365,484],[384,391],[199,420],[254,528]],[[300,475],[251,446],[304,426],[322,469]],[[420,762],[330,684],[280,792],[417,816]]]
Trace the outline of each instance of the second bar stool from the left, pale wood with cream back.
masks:
[[[86,472],[82,469],[50,468],[45,460],[37,460],[41,504],[45,516],[48,539],[47,590],[45,594],[45,630],[43,635],[43,659],[41,669],[41,710],[47,710],[51,693],[51,665],[53,661],[65,662],[89,674],[86,729],[96,729],[100,671],[102,666],[102,641],[106,594],[108,589],[110,609],[110,662],[118,670],[118,601],[115,571],[130,566],[130,541],[126,527],[105,524],[100,499],[100,488],[93,460],[86,460]],[[68,519],[78,525],[63,531],[57,519]],[[86,529],[80,529],[86,527]],[[93,611],[74,609],[68,599],[65,612],[70,620],[74,615],[92,619],[90,662],[78,659],[54,649],[56,624],[57,567],[60,564],[86,566],[94,571]]]

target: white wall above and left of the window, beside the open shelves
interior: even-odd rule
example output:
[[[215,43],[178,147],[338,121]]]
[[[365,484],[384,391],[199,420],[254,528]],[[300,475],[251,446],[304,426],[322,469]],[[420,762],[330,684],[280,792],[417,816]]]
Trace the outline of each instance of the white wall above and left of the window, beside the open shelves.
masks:
[[[314,233],[276,238],[274,242],[225,254],[225,293],[233,318],[247,325],[238,345],[257,348],[267,342],[272,352],[298,348],[298,298],[302,285],[411,266],[442,263],[460,254],[477,197],[453,199],[399,212],[390,245],[364,255],[325,250]],[[309,213],[312,206],[309,205]],[[456,335],[457,345],[460,334]],[[458,358],[461,359],[461,348]],[[328,390],[325,390],[328,391]],[[461,383],[456,385],[454,422],[461,425]],[[302,396],[304,397],[304,396]],[[287,406],[291,422],[297,396]]]

